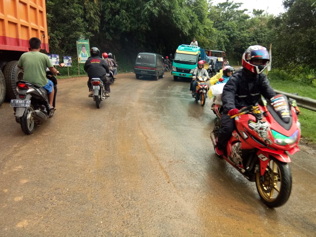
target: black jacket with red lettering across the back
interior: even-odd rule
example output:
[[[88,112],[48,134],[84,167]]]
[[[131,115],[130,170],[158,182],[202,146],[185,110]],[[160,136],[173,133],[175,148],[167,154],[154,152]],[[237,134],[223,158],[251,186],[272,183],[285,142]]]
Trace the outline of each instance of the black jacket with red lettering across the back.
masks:
[[[110,73],[106,62],[99,56],[89,57],[84,64],[84,70],[88,73],[89,79],[104,78],[106,73]]]

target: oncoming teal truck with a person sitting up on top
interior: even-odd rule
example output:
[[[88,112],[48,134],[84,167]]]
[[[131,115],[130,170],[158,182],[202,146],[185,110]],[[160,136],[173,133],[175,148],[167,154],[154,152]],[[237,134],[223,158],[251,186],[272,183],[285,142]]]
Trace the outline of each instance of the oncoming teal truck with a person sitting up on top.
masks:
[[[179,45],[172,62],[171,75],[173,75],[173,80],[192,78],[197,62],[205,60],[205,56],[204,49],[198,46]],[[170,55],[170,58],[172,58],[172,55]]]

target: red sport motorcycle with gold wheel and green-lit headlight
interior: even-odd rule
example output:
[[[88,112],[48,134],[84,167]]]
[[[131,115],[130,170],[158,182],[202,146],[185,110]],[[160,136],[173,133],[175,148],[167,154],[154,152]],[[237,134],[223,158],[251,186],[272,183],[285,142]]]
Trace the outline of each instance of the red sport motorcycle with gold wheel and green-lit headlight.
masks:
[[[260,99],[255,106],[244,107],[231,116],[236,129],[222,157],[256,183],[260,199],[269,207],[282,206],[291,193],[292,173],[288,164],[291,158],[287,153],[293,155],[300,150],[298,114],[296,101],[278,94],[271,103]],[[210,135],[214,148],[220,127],[216,122]]]

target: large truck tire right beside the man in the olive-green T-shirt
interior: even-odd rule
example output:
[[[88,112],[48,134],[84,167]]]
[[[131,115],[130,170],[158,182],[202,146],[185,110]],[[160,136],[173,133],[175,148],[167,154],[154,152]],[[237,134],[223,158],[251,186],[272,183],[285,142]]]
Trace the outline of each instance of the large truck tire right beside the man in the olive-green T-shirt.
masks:
[[[6,97],[8,99],[15,99],[18,94],[16,90],[16,82],[23,79],[24,71],[18,68],[18,61],[10,61],[5,65],[3,75],[6,82]]]

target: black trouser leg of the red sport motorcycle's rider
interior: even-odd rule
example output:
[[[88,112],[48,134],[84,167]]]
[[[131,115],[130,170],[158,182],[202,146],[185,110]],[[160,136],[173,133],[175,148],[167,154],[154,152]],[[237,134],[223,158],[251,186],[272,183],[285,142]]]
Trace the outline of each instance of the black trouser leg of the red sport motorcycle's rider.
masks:
[[[227,113],[222,114],[221,116],[221,128],[218,131],[218,148],[226,149],[226,145],[232,136],[233,131],[236,129],[235,119],[231,119]]]

